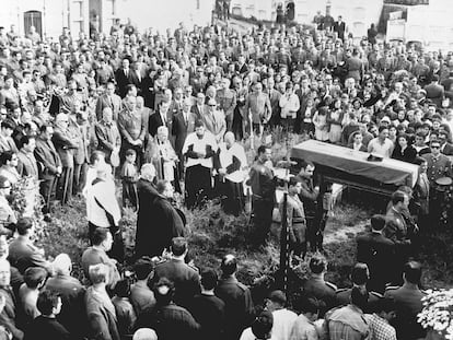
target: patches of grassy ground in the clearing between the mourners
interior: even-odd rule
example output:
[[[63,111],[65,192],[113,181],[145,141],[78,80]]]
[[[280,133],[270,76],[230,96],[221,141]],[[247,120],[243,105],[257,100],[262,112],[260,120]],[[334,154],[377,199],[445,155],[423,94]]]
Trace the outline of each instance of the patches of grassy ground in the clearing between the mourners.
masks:
[[[199,268],[216,268],[225,254],[234,254],[241,263],[239,278],[254,288],[254,297],[259,301],[269,289],[276,286],[276,271],[279,263],[280,225],[275,223],[268,246],[256,250],[249,246],[248,216],[226,215],[219,204],[210,203],[206,209],[187,213],[188,241],[190,256]],[[328,259],[326,279],[338,286],[350,284],[349,273],[356,262],[356,236],[368,227],[368,219],[372,209],[350,203],[339,203],[334,216],[327,222],[325,231],[325,250]],[[131,255],[133,250],[136,214],[127,210],[124,213],[123,226],[125,241]],[[67,207],[57,207],[53,221],[47,225],[47,236],[42,241],[46,254],[55,257],[67,253],[74,261],[74,275],[83,278],[80,270],[80,256],[89,246],[88,226],[84,202],[73,200]],[[419,259],[426,268],[422,284],[425,288],[453,286],[453,233],[441,230],[423,237],[425,246]],[[310,259],[312,255],[307,255]],[[290,275],[290,290],[298,291],[306,278],[306,262],[293,268]]]

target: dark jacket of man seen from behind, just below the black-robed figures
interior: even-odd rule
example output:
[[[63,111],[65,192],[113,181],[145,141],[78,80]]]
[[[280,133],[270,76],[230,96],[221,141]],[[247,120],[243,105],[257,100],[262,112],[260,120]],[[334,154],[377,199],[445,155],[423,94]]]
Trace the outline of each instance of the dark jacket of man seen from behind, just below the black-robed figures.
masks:
[[[183,260],[171,259],[155,267],[154,280],[167,278],[175,284],[174,302],[178,306],[189,308],[195,295],[200,293],[198,272]]]

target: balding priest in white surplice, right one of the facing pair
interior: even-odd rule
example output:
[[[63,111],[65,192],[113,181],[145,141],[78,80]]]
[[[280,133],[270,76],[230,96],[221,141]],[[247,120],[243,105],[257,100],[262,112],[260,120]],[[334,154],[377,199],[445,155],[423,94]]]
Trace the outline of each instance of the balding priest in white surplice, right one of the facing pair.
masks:
[[[244,208],[244,179],[247,157],[244,146],[236,143],[234,133],[229,131],[219,145],[217,157],[218,183],[224,212],[239,215]]]

